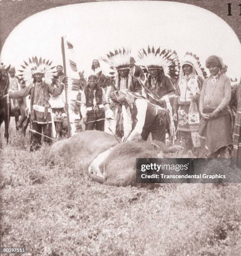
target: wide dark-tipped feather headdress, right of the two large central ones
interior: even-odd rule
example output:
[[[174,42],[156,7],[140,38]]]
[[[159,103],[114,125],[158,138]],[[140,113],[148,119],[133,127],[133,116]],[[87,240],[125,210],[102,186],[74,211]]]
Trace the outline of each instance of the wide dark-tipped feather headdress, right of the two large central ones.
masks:
[[[154,46],[148,46],[147,50],[142,48],[138,52],[138,60],[141,67],[150,71],[150,69],[160,69],[165,76],[169,77],[175,84],[179,77],[180,61],[176,51],[163,49],[156,50]]]

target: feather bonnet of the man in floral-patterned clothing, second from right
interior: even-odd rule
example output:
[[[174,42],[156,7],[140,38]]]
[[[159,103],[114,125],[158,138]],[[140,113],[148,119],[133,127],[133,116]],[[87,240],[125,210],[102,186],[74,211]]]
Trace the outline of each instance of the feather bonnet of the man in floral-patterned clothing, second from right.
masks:
[[[193,75],[198,75],[205,79],[207,77],[207,73],[205,72],[204,68],[201,67],[200,61],[198,56],[192,54],[191,52],[186,52],[183,61],[182,61],[182,69],[181,69],[181,76],[184,76],[183,66],[189,65],[193,68]]]

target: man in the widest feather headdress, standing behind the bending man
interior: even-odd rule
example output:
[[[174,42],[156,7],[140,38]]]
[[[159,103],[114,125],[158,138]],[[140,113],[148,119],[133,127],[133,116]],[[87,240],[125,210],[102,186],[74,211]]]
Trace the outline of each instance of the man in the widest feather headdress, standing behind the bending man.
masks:
[[[162,142],[165,143],[166,128],[169,123],[170,135],[175,137],[173,132],[174,122],[172,108],[170,105],[170,97],[175,93],[173,84],[176,82],[179,75],[179,61],[175,51],[166,50],[160,51],[160,47],[155,50],[154,47],[148,46],[147,51],[141,49],[139,51],[140,65],[145,67],[148,72],[148,77],[145,82],[145,94],[151,103],[160,105],[170,110],[170,116],[163,112],[160,115],[160,130],[162,131]],[[147,90],[148,92],[147,92]],[[167,119],[170,119],[169,122]]]

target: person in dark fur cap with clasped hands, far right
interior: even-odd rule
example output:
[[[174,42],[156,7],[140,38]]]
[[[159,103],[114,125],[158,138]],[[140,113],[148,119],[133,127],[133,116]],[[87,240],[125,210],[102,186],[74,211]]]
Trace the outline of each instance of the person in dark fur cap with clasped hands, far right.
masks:
[[[206,141],[210,157],[225,157],[232,140],[231,114],[228,104],[231,100],[230,79],[222,74],[223,61],[218,56],[210,56],[206,67],[211,73],[203,82],[200,95],[200,129],[198,135]]]

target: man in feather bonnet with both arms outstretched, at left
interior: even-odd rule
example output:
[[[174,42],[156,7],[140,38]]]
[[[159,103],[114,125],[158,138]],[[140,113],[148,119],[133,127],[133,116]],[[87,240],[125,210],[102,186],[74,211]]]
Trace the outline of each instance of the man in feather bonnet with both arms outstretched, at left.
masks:
[[[29,59],[29,63],[25,62],[25,66],[21,76],[29,84],[20,91],[9,91],[9,96],[14,99],[20,99],[30,95],[30,119],[32,129],[36,132],[32,133],[32,141],[30,150],[36,150],[41,146],[41,133],[49,137],[44,137],[46,143],[51,142],[51,128],[53,118],[51,117],[51,108],[49,104],[50,93],[53,95],[60,95],[63,91],[64,84],[61,83],[58,88],[53,88],[50,83],[53,78],[54,67],[51,67],[49,61],[42,61],[35,57]],[[45,78],[45,81],[43,80]],[[49,83],[47,83],[49,82]]]

